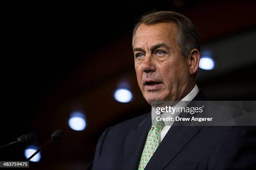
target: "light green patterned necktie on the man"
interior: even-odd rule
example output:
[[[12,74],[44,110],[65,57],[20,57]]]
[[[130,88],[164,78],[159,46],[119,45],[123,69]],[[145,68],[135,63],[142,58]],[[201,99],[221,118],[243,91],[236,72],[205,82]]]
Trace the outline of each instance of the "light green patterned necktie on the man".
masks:
[[[148,161],[156,151],[156,148],[160,144],[160,132],[164,128],[163,121],[157,121],[156,118],[154,119],[151,130],[148,132],[148,137],[146,140],[146,144],[144,146],[143,152],[141,154],[141,161],[138,166],[138,170],[144,170]]]

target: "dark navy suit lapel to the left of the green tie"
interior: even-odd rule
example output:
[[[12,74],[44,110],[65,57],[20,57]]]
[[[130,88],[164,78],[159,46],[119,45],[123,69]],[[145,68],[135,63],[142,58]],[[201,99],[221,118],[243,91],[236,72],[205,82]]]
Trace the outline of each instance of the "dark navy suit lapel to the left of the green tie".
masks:
[[[128,134],[125,139],[124,164],[122,170],[136,170],[141,160],[148,131],[151,127],[151,114],[138,124],[138,128]]]

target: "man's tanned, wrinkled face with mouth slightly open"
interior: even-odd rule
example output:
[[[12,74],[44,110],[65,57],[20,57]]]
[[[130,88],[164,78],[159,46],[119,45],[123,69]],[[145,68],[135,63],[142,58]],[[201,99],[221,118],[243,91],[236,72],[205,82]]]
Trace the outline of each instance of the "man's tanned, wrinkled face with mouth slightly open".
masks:
[[[141,24],[134,36],[138,85],[146,101],[181,100],[189,92],[189,63],[176,42],[175,23]]]

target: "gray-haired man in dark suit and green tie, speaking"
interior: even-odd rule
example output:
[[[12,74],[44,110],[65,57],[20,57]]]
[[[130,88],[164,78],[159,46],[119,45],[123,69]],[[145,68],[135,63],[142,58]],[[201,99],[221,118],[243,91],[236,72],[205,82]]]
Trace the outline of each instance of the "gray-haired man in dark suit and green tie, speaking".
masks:
[[[151,106],[154,101],[205,100],[195,84],[199,33],[188,18],[166,11],[147,14],[134,28],[132,46],[138,85]],[[250,169],[256,157],[247,146],[255,146],[255,137],[241,132],[236,127],[167,126],[147,113],[105,130],[88,169]]]

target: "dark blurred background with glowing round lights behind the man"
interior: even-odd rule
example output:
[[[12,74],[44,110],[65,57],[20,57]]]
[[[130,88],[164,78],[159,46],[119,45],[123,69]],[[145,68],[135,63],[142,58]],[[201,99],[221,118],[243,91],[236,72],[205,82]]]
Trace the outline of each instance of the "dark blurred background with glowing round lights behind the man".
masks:
[[[30,169],[85,169],[106,128],[150,111],[131,38],[137,18],[151,10],[182,13],[197,26],[197,85],[208,100],[256,99],[255,1],[12,2],[1,9],[0,145],[34,135],[33,146],[1,149],[1,161],[24,160],[62,129],[64,138]]]

